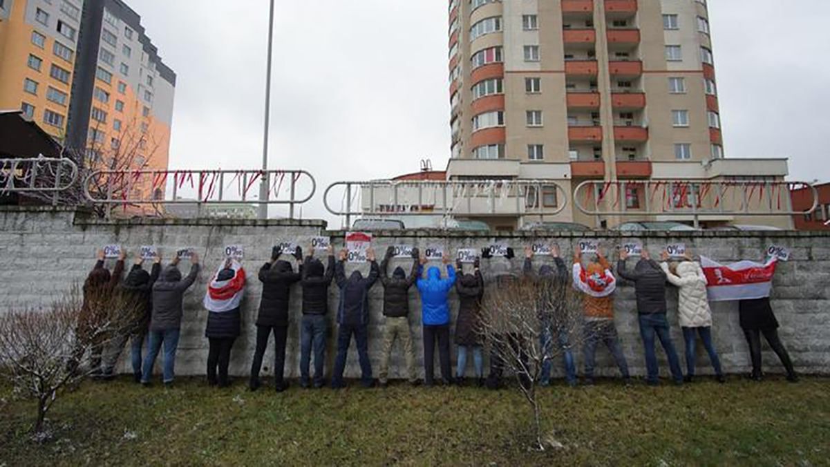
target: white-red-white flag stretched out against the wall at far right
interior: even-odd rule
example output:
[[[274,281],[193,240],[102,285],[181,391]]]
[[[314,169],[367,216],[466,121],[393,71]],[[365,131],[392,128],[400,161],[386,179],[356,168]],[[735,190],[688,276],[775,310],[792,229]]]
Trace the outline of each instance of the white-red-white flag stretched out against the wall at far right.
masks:
[[[701,256],[709,299],[713,302],[769,297],[776,265],[777,258],[771,258],[766,263],[743,260],[721,265],[706,256]]]

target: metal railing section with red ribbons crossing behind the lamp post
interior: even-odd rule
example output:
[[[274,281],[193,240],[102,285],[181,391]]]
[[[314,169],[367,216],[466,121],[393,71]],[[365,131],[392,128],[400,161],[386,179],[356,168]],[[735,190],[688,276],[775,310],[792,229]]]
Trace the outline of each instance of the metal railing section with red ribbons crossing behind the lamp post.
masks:
[[[259,199],[259,183],[265,178],[267,199]],[[308,186],[307,196],[297,197],[300,182]],[[172,192],[173,199],[164,199]],[[90,193],[95,188],[95,196]],[[195,198],[179,195],[183,189]],[[255,195],[250,197],[249,193]],[[203,205],[256,203],[295,206],[309,202],[317,190],[315,178],[305,170],[98,170],[84,180],[85,197],[94,203],[123,205]],[[285,195],[285,196],[282,196]]]

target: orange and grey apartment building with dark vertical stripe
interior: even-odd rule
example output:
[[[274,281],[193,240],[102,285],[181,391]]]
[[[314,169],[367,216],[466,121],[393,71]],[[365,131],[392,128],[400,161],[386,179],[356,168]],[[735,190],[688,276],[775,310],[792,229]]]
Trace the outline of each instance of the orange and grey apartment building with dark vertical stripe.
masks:
[[[0,0],[0,109],[95,163],[167,168],[176,75],[120,0]]]

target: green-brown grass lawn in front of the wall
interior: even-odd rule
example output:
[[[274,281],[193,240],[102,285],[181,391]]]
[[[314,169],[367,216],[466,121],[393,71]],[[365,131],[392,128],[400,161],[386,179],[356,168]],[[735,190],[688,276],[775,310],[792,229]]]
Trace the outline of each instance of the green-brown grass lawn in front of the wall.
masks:
[[[529,450],[515,389],[358,387],[276,394],[179,380],[88,382],[58,401],[53,440],[0,386],[0,465],[828,465],[830,380],[543,389],[561,449]]]

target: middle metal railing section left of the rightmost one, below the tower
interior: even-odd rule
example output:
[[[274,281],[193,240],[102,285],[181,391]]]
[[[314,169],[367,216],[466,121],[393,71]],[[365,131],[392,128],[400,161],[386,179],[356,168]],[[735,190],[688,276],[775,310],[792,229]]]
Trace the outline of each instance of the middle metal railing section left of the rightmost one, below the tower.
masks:
[[[337,187],[344,193],[335,209],[330,195]],[[554,202],[546,205],[544,197],[551,189]],[[371,180],[332,183],[323,205],[351,225],[353,216],[555,216],[568,206],[568,198],[554,180]]]

